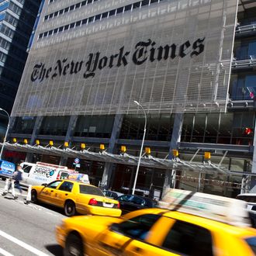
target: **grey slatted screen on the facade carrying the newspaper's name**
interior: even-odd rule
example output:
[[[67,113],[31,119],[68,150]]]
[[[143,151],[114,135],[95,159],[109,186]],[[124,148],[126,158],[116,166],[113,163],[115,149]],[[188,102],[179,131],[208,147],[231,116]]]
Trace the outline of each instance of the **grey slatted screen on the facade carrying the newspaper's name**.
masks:
[[[137,115],[134,101],[147,114],[225,112],[237,1],[151,1],[79,22],[126,5],[106,0],[108,9],[99,2],[42,19],[12,116]],[[80,25],[60,31],[68,22]]]

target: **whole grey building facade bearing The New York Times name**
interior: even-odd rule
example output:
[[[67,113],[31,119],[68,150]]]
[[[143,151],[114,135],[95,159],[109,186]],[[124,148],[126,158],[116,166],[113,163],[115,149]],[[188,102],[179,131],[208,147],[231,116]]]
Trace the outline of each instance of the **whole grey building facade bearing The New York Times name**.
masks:
[[[5,157],[70,168],[79,157],[92,184],[130,192],[147,121],[137,193],[253,189],[255,10],[246,0],[46,2]]]

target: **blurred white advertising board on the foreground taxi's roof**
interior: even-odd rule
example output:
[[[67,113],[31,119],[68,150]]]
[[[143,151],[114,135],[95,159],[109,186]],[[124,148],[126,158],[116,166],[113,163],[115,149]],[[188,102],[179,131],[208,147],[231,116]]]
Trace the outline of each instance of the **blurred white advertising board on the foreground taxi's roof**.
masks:
[[[246,202],[220,195],[167,189],[159,206],[239,227],[251,227]]]

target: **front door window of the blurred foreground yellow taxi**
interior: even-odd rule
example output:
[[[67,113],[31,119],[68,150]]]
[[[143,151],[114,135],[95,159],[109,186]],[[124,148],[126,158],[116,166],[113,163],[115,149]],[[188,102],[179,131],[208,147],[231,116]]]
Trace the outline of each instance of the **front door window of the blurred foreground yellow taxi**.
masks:
[[[147,237],[151,227],[159,220],[161,216],[156,214],[144,214],[136,216],[122,223],[112,225],[112,231],[124,234],[134,239],[144,240]]]

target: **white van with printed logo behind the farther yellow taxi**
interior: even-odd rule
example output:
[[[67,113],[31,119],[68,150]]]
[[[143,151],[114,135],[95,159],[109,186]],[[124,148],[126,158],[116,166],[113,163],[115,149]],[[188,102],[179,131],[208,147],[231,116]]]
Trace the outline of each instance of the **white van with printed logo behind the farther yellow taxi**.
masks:
[[[23,162],[22,181],[20,185],[42,185],[53,182],[56,179],[64,179],[70,175],[71,170],[67,166],[36,162],[36,164]]]

